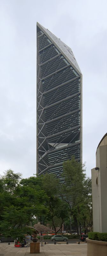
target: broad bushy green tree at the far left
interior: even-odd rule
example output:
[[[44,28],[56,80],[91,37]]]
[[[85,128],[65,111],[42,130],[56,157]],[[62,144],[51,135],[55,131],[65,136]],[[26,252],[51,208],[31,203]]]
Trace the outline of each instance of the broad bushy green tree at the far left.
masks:
[[[18,236],[20,230],[22,236],[27,232],[25,226],[34,220],[34,216],[47,213],[47,196],[41,189],[40,179],[31,177],[20,181],[20,174],[8,170],[1,178],[0,186],[0,233]]]

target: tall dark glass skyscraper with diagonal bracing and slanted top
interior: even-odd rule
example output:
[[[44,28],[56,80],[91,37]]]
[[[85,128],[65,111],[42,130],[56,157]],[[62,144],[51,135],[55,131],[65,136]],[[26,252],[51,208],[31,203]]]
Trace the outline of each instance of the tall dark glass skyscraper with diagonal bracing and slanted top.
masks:
[[[82,74],[72,50],[37,23],[37,173],[82,161]]]

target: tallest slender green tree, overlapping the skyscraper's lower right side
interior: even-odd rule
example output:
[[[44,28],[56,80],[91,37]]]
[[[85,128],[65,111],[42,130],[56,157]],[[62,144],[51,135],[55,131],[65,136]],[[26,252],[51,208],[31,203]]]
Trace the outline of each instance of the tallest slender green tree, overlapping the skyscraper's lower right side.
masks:
[[[72,156],[71,160],[63,163],[64,184],[60,186],[61,198],[69,206],[70,215],[73,216],[78,235],[78,214],[84,201],[83,191],[86,178],[84,171],[82,164],[78,163]]]

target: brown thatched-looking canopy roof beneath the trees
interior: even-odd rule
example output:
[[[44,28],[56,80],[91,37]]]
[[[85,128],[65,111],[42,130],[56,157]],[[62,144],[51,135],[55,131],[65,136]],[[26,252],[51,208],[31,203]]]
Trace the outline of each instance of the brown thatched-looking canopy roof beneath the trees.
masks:
[[[36,231],[38,231],[38,233],[54,233],[55,232],[53,229],[48,228],[41,224],[35,224],[33,227],[30,227],[30,226],[26,226],[26,227],[33,228]]]

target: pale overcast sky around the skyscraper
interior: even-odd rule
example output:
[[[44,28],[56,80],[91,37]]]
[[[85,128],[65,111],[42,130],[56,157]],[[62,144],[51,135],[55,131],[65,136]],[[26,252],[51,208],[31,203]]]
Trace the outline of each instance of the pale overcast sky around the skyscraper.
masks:
[[[107,0],[0,0],[0,173],[36,173],[36,22],[71,47],[83,75],[87,176],[107,132]]]

